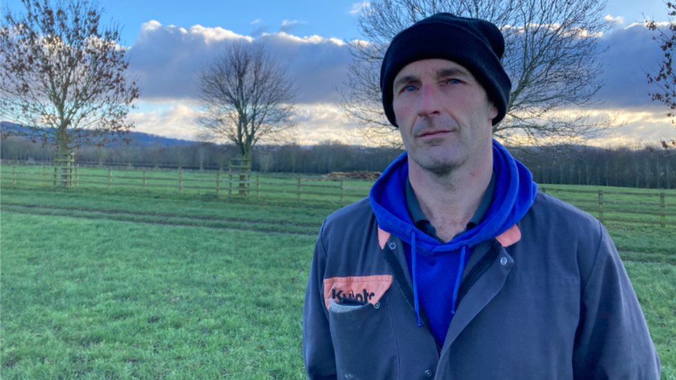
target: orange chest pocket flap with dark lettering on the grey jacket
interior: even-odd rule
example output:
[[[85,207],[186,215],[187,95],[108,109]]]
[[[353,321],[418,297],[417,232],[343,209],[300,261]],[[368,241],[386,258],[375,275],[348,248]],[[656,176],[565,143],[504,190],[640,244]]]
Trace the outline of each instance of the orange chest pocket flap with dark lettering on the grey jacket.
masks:
[[[341,298],[368,302],[375,305],[382,295],[390,289],[392,275],[365,275],[362,277],[332,277],[324,279],[324,301],[326,309],[331,300],[340,302]]]

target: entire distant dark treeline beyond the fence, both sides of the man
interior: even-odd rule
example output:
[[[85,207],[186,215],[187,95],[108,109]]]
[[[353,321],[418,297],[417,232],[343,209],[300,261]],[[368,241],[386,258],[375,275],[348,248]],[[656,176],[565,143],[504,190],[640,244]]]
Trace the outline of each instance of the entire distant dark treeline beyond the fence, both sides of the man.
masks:
[[[657,146],[612,148],[580,145],[510,149],[533,172],[537,183],[676,188],[676,154]],[[357,147],[335,142],[319,145],[258,146],[252,169],[260,172],[327,174],[368,170],[381,172],[401,154],[391,148]],[[0,159],[53,161],[54,147],[42,147],[21,138],[0,141]],[[237,151],[227,145],[195,143],[190,146],[122,145],[84,147],[75,161],[92,165],[129,165],[193,170],[226,169]]]

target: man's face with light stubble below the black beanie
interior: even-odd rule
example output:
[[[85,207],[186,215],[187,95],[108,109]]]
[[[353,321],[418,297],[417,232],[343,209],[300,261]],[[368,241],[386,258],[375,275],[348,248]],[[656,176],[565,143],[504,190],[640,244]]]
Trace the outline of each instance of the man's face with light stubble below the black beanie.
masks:
[[[436,175],[490,155],[497,107],[474,75],[447,60],[404,66],[392,107],[409,159]]]

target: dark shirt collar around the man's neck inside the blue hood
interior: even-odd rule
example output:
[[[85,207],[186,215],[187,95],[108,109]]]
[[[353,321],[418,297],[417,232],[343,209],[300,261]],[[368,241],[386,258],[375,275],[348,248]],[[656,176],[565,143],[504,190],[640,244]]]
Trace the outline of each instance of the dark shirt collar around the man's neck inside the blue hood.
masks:
[[[483,219],[483,217],[486,216],[486,212],[488,212],[488,208],[490,208],[490,203],[492,203],[493,201],[494,190],[495,190],[495,173],[493,173],[492,176],[490,177],[490,183],[488,183],[488,188],[486,188],[486,194],[483,194],[483,199],[481,199],[481,203],[479,203],[479,208],[477,208],[477,211],[475,211],[474,215],[472,215],[472,219],[470,219],[470,221],[468,222],[467,226],[465,227],[465,230],[455,235],[455,237],[461,235],[462,233],[465,233],[465,231],[470,230],[475,226],[477,226],[479,223],[481,223],[481,219]],[[443,244],[444,243],[443,240],[436,235],[436,228],[432,226],[432,223],[429,222],[429,219],[427,219],[425,213],[422,212],[422,209],[420,208],[420,203],[418,202],[418,198],[416,197],[416,193],[413,192],[413,187],[411,186],[411,181],[409,181],[409,177],[406,177],[406,190],[404,193],[406,196],[406,205],[407,208],[409,209],[409,215],[411,215],[411,219],[413,220],[413,224],[416,225],[416,228],[426,233],[427,235],[434,237],[434,239]]]

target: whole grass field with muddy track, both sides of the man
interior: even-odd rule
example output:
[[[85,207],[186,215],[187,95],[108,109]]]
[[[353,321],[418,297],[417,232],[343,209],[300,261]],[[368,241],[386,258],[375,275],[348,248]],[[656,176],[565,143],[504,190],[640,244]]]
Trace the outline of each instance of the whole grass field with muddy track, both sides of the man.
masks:
[[[303,379],[312,248],[339,207],[0,187],[0,379]],[[676,228],[607,227],[676,380]]]

